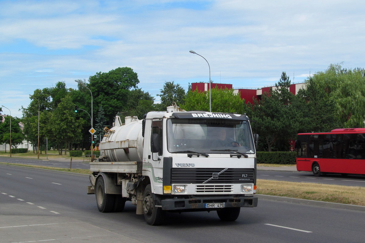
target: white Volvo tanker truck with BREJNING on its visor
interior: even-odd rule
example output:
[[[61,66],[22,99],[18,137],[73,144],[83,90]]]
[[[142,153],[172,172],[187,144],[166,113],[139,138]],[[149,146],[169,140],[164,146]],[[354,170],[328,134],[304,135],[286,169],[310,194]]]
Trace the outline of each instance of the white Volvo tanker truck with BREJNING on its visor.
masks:
[[[137,205],[150,225],[166,212],[217,211],[223,221],[256,207],[257,134],[246,115],[169,106],[142,120],[116,116],[100,157],[90,163],[88,194],[100,212]]]

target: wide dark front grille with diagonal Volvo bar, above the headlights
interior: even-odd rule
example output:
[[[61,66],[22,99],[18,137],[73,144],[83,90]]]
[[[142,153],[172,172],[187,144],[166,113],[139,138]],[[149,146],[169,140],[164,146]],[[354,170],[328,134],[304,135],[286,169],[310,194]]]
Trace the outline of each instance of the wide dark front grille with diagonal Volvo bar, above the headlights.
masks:
[[[172,184],[202,184],[207,181],[213,174],[220,173],[225,168],[172,168]],[[223,183],[253,183],[254,169],[248,168],[229,168],[218,175],[218,179],[211,179],[206,184],[223,184]]]

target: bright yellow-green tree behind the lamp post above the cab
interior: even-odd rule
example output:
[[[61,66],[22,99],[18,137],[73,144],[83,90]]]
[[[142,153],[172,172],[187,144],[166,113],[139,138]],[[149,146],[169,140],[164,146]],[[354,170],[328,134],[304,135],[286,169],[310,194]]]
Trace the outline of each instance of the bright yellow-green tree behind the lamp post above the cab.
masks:
[[[239,94],[235,94],[233,89],[219,89],[215,87],[211,90],[212,112],[245,113],[243,108],[244,100]],[[184,110],[207,110],[209,111],[208,92],[188,91],[184,99]]]

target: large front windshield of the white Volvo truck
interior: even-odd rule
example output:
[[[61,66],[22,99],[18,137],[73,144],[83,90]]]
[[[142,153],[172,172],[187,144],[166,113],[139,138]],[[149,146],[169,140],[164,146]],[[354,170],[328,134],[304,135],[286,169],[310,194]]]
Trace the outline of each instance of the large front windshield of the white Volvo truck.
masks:
[[[248,121],[170,118],[167,134],[170,153],[255,153]]]

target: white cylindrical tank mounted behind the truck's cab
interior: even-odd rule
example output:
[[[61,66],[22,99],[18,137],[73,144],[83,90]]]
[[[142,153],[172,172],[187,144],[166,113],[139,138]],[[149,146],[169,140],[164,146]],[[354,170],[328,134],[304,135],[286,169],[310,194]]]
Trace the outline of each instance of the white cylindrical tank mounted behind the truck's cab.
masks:
[[[105,134],[99,150],[100,156],[108,157],[104,161],[142,161],[142,120],[126,117],[126,124],[122,124],[116,116],[114,127]]]

